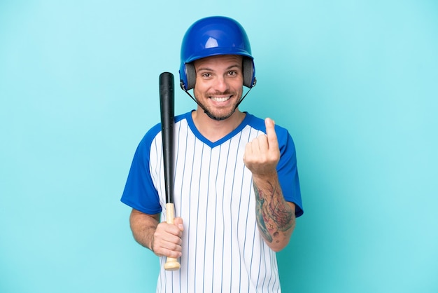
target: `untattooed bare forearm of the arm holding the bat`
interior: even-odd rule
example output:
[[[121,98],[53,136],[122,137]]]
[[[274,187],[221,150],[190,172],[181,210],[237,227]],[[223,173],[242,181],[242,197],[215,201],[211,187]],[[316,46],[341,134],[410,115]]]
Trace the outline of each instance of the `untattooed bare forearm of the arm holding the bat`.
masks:
[[[136,242],[153,250],[153,237],[158,225],[158,214],[148,215],[138,210],[132,210],[129,224]]]

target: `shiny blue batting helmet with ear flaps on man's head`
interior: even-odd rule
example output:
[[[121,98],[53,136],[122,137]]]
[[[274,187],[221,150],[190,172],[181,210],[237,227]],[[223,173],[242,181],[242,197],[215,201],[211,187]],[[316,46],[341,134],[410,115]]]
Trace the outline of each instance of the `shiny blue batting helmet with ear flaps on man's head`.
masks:
[[[255,86],[255,67],[245,30],[232,18],[212,16],[195,22],[185,32],[181,45],[181,88],[195,87],[196,72],[192,62],[214,55],[243,56],[243,86]]]

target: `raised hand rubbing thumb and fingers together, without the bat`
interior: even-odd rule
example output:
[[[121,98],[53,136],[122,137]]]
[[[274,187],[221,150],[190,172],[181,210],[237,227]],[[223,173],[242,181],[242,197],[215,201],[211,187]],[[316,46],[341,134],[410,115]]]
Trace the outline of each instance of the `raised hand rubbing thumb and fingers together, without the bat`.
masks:
[[[271,118],[264,119],[266,135],[260,135],[248,142],[243,154],[243,163],[253,176],[269,176],[276,174],[276,167],[280,161],[280,149],[275,132],[275,123]]]

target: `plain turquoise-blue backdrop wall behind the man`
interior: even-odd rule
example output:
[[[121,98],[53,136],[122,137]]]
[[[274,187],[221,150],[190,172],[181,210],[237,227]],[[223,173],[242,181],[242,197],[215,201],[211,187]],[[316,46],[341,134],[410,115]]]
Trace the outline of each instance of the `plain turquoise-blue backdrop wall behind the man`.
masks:
[[[1,0],[0,292],[154,292],[119,200],[158,76],[178,79],[209,15],[250,38],[241,109],[295,139],[305,213],[283,292],[438,292],[433,0]],[[177,90],[177,114],[194,108]]]

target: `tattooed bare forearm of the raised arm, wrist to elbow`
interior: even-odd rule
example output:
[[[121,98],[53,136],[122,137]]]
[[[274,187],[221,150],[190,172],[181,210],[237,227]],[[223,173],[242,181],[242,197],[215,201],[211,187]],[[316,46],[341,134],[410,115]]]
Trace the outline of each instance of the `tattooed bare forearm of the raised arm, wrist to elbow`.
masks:
[[[288,245],[295,228],[295,205],[285,201],[276,174],[253,176],[253,184],[257,226],[267,245],[278,252]]]

